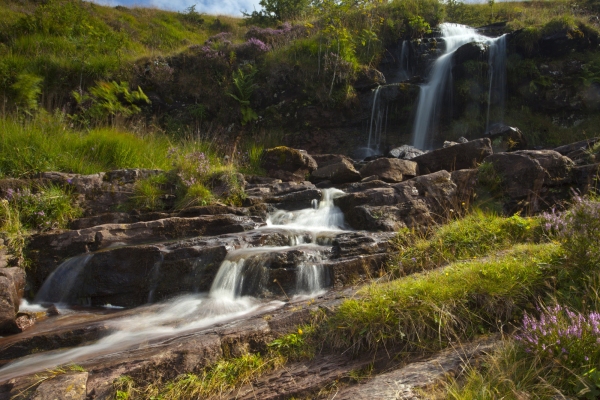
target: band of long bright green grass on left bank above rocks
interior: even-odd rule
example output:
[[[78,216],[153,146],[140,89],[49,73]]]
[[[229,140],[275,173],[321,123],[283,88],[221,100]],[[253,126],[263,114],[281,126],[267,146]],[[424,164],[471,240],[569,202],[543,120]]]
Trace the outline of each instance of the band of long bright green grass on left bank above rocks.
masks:
[[[0,176],[43,171],[97,173],[120,168],[168,169],[165,137],[144,139],[117,129],[87,133],[69,128],[62,115],[38,115],[28,121],[0,120]]]

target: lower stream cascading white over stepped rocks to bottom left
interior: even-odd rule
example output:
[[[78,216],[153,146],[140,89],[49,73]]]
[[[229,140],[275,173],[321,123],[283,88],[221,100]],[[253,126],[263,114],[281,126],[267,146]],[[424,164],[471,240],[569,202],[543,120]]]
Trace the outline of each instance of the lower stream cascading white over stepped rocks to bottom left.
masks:
[[[333,200],[342,194],[337,189],[325,189],[323,200],[317,207],[296,212],[278,211],[269,218],[265,229],[283,229],[291,232],[291,237],[301,236],[295,231],[309,231],[314,239],[318,239],[322,232],[325,235],[341,232],[344,218]],[[164,303],[140,307],[135,313],[123,311],[126,316],[105,322],[112,331],[108,336],[90,345],[47,351],[11,362],[0,369],[0,382],[57,365],[83,363],[132,348],[152,346],[161,339],[198,331],[216,323],[273,311],[285,303],[261,301],[254,295],[265,284],[263,278],[268,278],[269,260],[286,251],[301,254],[300,264],[296,265],[296,294],[314,296],[322,293],[326,274],[319,264],[326,247],[315,244],[316,241],[293,246],[232,250],[219,267],[208,293],[180,296]],[[64,301],[91,257],[90,254],[74,257],[58,267],[40,290],[40,301]],[[155,264],[155,268],[160,268],[160,264]],[[54,289],[57,289],[55,293]],[[36,308],[29,304],[27,307]]]

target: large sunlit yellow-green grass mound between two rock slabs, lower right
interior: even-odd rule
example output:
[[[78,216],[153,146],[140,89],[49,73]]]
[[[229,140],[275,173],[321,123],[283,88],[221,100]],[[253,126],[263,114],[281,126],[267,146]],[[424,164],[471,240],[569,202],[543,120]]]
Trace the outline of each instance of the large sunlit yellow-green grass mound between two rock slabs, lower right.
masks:
[[[542,293],[560,246],[522,244],[483,260],[372,284],[330,317],[323,338],[334,348],[392,344],[436,350],[501,329]]]

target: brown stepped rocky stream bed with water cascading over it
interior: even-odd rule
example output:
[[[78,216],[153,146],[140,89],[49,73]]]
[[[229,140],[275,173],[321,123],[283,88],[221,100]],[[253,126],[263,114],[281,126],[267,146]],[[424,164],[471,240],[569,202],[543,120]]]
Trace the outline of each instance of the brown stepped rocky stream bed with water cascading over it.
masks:
[[[385,273],[398,229],[464,212],[477,200],[481,163],[493,166],[493,198],[506,214],[536,213],[594,187],[600,164],[590,163],[593,144],[494,153],[483,138],[409,160],[396,158],[406,154],[398,150],[361,162],[279,147],[266,152],[269,177],[239,177],[244,207],[173,212],[113,211],[137,180],[159,171],[43,173],[35,179],[69,185],[85,215],[69,230],[32,237],[26,273],[0,269],[0,399],[114,398],[113,381],[122,375],[173,379],[263,351]],[[5,180],[2,190],[18,184]],[[430,359],[396,360],[393,349],[358,357],[323,352],[224,397],[326,398],[323,389],[336,382],[336,399],[418,398],[413,389],[457,371],[496,341]],[[66,364],[82,371],[40,378]],[[373,376],[350,384],[349,372],[368,364]]]

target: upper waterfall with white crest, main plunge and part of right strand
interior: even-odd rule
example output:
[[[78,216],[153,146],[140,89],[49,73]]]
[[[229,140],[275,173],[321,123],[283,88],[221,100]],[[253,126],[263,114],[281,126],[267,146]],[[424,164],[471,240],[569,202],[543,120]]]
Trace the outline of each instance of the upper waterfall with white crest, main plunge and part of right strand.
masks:
[[[446,43],[444,53],[435,61],[431,69],[429,79],[426,84],[421,86],[419,101],[417,104],[417,113],[413,128],[413,146],[418,149],[425,150],[433,145],[433,133],[435,132],[437,115],[442,107],[451,107],[451,104],[444,104],[444,92],[446,87],[451,83],[452,78],[452,56],[454,52],[461,46],[471,42],[481,42],[490,46],[490,67],[494,71],[490,75],[490,87],[493,80],[494,87],[500,87],[502,90],[505,87],[506,70],[506,38],[489,38],[480,35],[474,28],[443,23],[440,24],[442,38]],[[504,82],[501,80],[504,79]],[[502,102],[504,101],[502,95]],[[491,98],[488,99],[491,101]]]

